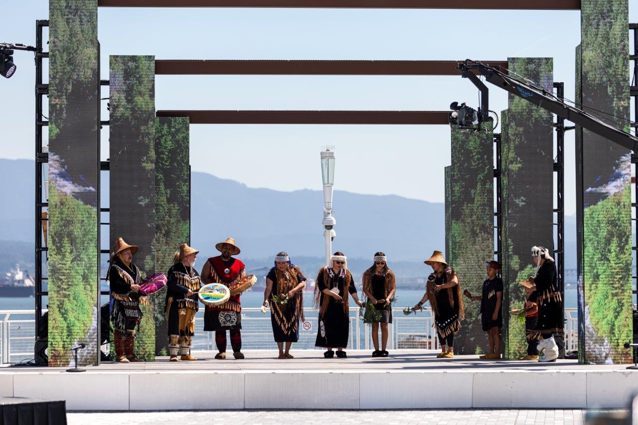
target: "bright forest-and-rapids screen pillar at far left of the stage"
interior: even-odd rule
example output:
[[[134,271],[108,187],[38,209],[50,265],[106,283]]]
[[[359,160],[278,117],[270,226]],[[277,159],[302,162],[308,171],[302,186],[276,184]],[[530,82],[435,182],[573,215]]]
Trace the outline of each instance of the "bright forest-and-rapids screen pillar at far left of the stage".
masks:
[[[48,364],[97,364],[98,4],[49,2]]]

